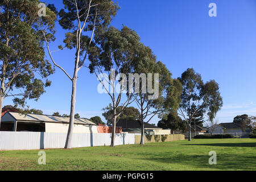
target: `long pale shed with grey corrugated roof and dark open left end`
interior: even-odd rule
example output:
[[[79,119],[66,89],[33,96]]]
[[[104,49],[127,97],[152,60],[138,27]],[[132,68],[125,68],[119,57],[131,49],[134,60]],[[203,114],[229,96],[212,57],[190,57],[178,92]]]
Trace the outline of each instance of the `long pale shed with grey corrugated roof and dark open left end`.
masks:
[[[69,118],[40,114],[7,112],[2,116],[0,131],[37,131],[67,133]],[[76,118],[73,133],[98,133],[95,123],[86,118]]]

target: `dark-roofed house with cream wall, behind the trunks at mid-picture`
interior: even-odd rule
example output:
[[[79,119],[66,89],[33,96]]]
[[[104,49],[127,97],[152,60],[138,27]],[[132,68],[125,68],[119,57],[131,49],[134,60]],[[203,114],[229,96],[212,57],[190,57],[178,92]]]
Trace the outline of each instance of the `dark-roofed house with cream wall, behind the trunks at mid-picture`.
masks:
[[[122,127],[122,132],[141,134],[140,121],[119,121],[117,127]],[[144,122],[144,133],[153,135],[169,135],[171,130],[163,130],[162,128]]]

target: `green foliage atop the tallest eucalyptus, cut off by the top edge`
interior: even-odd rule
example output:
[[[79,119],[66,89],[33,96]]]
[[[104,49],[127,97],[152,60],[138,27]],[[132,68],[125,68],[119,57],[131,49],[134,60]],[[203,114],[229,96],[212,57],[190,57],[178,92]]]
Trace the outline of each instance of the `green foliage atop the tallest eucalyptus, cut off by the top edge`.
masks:
[[[59,23],[65,30],[70,31],[65,34],[63,42],[65,47],[69,49],[76,48],[79,51],[79,55],[76,55],[76,57],[81,57],[79,62],[79,67],[81,67],[84,64],[84,60],[88,58],[87,55],[90,47],[93,48],[96,44],[91,41],[88,34],[77,36],[77,22],[81,23],[79,28],[84,26],[82,29],[84,32],[94,33],[94,31],[105,30],[117,14],[119,7],[112,0],[93,0],[92,2],[63,0],[63,3],[64,9],[61,9],[58,14]],[[77,10],[79,18],[77,18]],[[80,39],[79,47],[77,47],[77,39]],[[59,46],[59,48],[63,49],[62,46]]]

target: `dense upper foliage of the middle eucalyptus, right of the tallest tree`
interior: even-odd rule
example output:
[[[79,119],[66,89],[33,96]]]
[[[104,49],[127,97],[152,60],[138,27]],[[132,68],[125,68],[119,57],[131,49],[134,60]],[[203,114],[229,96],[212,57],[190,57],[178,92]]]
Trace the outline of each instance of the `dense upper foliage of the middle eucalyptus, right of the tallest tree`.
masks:
[[[122,30],[109,27],[105,31],[97,31],[95,35],[97,45],[90,48],[90,72],[115,70],[118,73],[131,73],[131,64],[135,60],[139,46],[139,36],[130,28],[123,26]],[[97,69],[96,69],[97,67]]]

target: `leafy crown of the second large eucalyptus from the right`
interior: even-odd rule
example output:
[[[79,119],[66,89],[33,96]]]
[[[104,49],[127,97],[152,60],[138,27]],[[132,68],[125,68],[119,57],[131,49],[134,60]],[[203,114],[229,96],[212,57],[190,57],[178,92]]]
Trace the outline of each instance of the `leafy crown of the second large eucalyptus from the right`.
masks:
[[[182,86],[178,80],[172,79],[171,72],[166,68],[161,61],[156,61],[156,56],[152,50],[141,44],[138,49],[137,61],[134,62],[134,73],[141,74],[158,74],[158,80],[152,80],[152,88],[157,83],[159,85],[159,97],[151,100],[149,96],[155,93],[143,93],[142,80],[139,81],[140,92],[134,94],[137,105],[143,115],[143,120],[149,115],[158,114],[159,117],[164,117],[169,110],[177,110],[180,103],[180,94]],[[148,85],[147,85],[148,86]],[[150,111],[151,110],[151,111]],[[148,122],[148,121],[147,121]]]

